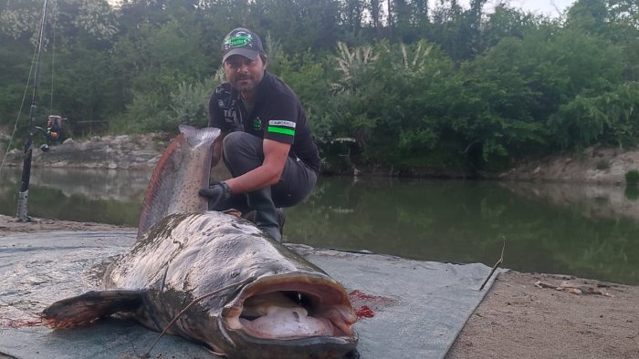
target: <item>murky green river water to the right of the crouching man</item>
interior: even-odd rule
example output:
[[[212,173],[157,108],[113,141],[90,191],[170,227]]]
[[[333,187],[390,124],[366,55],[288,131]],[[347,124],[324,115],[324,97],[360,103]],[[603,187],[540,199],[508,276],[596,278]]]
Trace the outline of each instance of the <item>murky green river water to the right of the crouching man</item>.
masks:
[[[526,186],[322,178],[288,211],[286,234],[314,246],[487,265],[505,238],[505,267],[639,283],[637,203],[623,189]]]

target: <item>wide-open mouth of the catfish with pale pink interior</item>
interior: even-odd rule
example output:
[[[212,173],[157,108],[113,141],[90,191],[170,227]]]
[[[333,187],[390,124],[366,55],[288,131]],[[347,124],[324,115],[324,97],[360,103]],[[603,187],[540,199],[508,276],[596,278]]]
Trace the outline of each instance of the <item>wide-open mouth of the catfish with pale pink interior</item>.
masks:
[[[271,277],[249,284],[225,312],[229,329],[259,339],[352,337],[356,320],[343,288],[315,276]]]

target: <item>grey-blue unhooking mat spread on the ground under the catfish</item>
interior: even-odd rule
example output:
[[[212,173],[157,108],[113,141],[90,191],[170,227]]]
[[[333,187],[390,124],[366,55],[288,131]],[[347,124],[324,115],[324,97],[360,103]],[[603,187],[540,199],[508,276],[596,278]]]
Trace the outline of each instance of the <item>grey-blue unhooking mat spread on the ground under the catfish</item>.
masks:
[[[128,251],[131,231],[14,234],[0,238],[0,357],[135,358],[158,333],[108,320],[53,331],[38,313],[60,299],[99,289],[110,259]],[[484,264],[421,262],[360,252],[289,245],[350,293],[360,316],[361,358],[441,358],[477,304],[490,268]],[[164,335],[152,358],[215,358],[200,344]]]

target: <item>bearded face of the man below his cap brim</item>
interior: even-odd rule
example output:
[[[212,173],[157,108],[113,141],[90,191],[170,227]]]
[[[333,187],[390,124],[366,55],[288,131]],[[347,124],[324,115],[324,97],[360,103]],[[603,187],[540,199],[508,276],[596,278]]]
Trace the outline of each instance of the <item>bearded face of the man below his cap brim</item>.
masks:
[[[224,63],[226,78],[231,86],[236,87],[240,92],[250,93],[257,88],[257,85],[264,77],[264,70],[267,64],[262,61],[261,56],[251,60],[241,55],[230,56]]]

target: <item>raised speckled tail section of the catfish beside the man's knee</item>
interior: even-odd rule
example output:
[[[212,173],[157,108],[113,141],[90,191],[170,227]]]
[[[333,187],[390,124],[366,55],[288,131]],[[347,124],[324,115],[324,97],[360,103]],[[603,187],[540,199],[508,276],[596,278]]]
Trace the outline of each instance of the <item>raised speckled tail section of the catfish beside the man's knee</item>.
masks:
[[[197,191],[208,187],[213,144],[219,128],[180,126],[181,134],[164,150],[144,194],[138,237],[173,213],[208,209]]]

